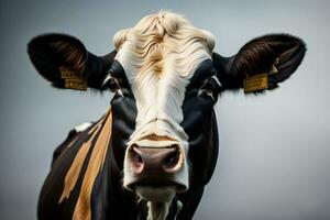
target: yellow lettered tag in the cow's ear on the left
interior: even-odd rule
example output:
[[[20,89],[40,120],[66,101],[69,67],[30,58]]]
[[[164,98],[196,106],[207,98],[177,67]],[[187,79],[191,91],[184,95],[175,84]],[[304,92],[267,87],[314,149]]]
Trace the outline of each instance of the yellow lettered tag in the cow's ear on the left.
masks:
[[[61,78],[64,79],[64,86],[68,89],[87,90],[87,81],[82,79],[80,73],[67,66],[59,66]]]

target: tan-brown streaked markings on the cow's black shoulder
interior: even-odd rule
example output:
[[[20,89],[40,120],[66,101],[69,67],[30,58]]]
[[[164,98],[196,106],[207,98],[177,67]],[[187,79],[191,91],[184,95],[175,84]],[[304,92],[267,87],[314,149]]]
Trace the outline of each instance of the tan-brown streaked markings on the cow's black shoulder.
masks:
[[[77,184],[79,174],[81,172],[81,167],[84,162],[86,161],[87,153],[91,147],[91,144],[95,143],[91,156],[89,160],[89,164],[87,166],[87,170],[85,173],[81,188],[79,193],[79,197],[74,210],[73,219],[74,220],[90,220],[91,219],[91,207],[90,207],[90,196],[92,191],[92,186],[95,179],[103,167],[103,163],[107,155],[107,150],[109,145],[109,141],[111,139],[111,129],[112,129],[112,114],[111,109],[107,112],[107,114],[91,128],[88,132],[88,135],[91,134],[90,139],[82,144],[80,150],[78,151],[72,167],[65,177],[64,190],[58,200],[58,204],[63,202],[64,199],[67,199]],[[76,141],[75,139],[74,141]],[[72,146],[74,141],[69,143]]]

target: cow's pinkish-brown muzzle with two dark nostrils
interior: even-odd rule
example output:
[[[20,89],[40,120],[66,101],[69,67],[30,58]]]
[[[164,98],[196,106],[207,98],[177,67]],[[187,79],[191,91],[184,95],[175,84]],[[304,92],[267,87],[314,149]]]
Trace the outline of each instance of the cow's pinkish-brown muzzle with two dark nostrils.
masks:
[[[127,165],[131,178],[125,187],[133,191],[141,187],[187,190],[187,185],[179,180],[185,173],[185,152],[178,144],[157,147],[132,144],[127,152]]]

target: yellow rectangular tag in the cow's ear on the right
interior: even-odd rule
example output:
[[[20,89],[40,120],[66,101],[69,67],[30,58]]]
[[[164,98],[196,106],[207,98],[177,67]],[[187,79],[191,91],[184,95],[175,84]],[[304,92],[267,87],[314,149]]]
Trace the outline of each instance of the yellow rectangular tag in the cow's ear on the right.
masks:
[[[248,77],[243,80],[243,86],[244,86],[245,94],[267,89],[268,88],[267,74],[260,74],[260,75]]]

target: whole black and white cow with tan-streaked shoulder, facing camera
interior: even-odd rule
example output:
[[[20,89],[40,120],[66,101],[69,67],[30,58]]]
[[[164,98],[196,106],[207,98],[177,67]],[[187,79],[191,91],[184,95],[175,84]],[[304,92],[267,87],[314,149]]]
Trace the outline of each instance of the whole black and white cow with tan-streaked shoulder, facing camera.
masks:
[[[213,52],[210,32],[168,11],[146,15],[113,42],[105,56],[67,34],[28,44],[53,87],[113,92],[105,116],[73,129],[55,150],[37,218],[189,220],[217,163],[218,97],[277,88],[306,44],[268,34],[224,57]]]

